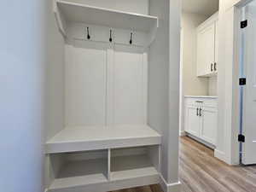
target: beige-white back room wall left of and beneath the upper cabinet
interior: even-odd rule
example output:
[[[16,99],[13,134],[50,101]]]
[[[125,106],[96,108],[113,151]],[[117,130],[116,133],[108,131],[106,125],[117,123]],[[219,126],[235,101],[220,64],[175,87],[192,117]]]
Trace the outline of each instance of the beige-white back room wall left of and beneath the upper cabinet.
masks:
[[[207,96],[208,78],[197,78],[196,65],[196,27],[204,20],[206,15],[192,13],[182,14],[183,29],[183,94],[184,96]]]

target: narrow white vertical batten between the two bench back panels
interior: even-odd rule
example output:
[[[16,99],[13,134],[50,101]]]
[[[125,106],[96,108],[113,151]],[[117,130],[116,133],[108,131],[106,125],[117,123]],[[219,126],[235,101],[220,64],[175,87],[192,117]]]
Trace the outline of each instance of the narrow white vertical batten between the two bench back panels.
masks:
[[[107,106],[106,123],[113,126],[113,49],[107,50]]]

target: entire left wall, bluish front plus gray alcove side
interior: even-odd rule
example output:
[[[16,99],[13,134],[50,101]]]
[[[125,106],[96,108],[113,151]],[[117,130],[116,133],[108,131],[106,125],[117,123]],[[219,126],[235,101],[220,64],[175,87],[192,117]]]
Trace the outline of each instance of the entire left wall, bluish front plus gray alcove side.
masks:
[[[0,191],[44,190],[44,134],[62,128],[64,41],[51,6],[1,4]]]

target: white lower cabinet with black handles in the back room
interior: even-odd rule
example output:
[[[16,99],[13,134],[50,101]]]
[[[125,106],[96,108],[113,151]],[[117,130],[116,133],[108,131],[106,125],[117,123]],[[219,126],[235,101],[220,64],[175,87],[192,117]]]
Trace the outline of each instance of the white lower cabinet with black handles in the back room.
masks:
[[[206,143],[216,144],[217,98],[185,98],[185,131]]]

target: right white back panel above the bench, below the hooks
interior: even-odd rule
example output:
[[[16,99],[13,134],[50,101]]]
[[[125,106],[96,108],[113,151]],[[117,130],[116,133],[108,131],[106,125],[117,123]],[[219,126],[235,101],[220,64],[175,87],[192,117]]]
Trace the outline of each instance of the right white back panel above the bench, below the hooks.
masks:
[[[116,45],[113,51],[113,124],[144,125],[147,122],[147,54],[133,46]]]

